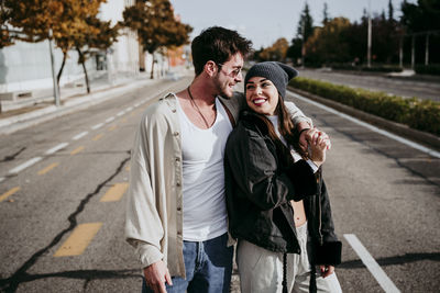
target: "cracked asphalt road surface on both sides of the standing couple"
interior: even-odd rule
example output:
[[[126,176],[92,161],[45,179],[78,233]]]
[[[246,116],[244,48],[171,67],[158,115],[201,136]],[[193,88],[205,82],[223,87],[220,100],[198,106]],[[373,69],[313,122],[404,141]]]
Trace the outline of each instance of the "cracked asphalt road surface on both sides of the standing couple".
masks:
[[[189,80],[158,81],[0,136],[1,292],[140,291],[123,240],[129,151],[148,103]],[[383,291],[377,268],[369,270],[344,236],[354,235],[398,290],[438,292],[440,160],[295,102],[332,139],[324,178],[343,241],[343,291]]]

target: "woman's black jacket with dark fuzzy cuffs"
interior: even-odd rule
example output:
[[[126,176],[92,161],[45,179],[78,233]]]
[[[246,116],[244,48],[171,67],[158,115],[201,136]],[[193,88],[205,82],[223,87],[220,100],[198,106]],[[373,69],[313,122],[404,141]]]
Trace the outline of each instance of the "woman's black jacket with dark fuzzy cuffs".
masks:
[[[289,160],[252,112],[242,113],[224,153],[229,229],[234,238],[276,252],[300,253],[288,202],[304,200],[310,263],[340,263],[341,243],[321,170],[314,174],[305,160],[286,165]]]

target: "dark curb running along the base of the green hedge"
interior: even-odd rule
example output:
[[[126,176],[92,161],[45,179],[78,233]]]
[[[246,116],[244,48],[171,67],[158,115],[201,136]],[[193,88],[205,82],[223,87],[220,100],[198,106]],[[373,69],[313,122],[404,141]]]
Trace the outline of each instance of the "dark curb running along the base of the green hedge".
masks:
[[[333,108],[342,113],[349,114],[351,116],[354,116],[359,120],[362,120],[364,122],[367,122],[370,124],[373,124],[375,126],[378,126],[381,128],[384,128],[386,131],[393,132],[394,134],[398,134],[403,137],[406,137],[408,139],[415,140],[417,143],[420,143],[427,147],[433,148],[436,150],[440,150],[440,137],[429,134],[426,132],[413,129],[404,124],[392,122],[382,117],[378,117],[373,114],[369,114],[366,112],[356,110],[354,108],[324,99],[322,97],[309,93],[307,91],[298,90],[293,87],[287,87],[288,90],[296,92],[300,95],[304,95],[310,100],[314,100],[316,102],[319,102],[321,104],[324,104],[327,106]]]

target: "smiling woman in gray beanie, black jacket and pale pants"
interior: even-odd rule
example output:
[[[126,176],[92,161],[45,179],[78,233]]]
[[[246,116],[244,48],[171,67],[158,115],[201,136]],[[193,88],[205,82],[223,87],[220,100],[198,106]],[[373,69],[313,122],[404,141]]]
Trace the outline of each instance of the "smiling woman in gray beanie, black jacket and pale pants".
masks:
[[[249,70],[249,110],[226,146],[229,228],[239,240],[243,293],[341,292],[333,273],[341,243],[320,168],[326,142],[316,129],[306,129],[315,139],[302,151],[283,101],[296,75],[273,61]]]

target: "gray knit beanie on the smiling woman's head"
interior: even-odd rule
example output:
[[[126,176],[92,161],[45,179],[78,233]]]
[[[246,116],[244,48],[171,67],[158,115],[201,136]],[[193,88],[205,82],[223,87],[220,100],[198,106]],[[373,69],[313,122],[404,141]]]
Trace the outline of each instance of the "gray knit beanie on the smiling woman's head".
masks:
[[[265,61],[258,63],[249,69],[244,78],[244,92],[246,92],[246,83],[253,77],[264,77],[271,80],[275,88],[278,90],[283,99],[286,97],[286,87],[290,79],[296,77],[298,71],[293,67],[277,63],[277,61]]]

